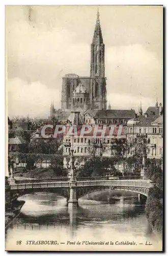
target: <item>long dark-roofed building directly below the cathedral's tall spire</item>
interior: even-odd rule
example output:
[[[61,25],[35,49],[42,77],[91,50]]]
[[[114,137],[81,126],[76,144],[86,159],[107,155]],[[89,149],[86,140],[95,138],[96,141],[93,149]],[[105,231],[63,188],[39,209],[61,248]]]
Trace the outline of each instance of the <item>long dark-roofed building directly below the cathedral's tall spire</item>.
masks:
[[[92,110],[83,114],[83,120],[90,124],[126,124],[128,120],[136,118],[134,110]]]

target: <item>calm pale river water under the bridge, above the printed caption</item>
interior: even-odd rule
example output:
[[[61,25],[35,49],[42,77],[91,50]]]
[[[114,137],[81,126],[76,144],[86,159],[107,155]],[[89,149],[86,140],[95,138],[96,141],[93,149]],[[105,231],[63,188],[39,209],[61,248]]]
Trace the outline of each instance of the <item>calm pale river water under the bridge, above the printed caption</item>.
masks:
[[[67,200],[52,193],[34,193],[20,199],[26,203],[20,215],[7,230],[11,236],[38,234],[48,239],[55,231],[63,239],[75,239],[87,233],[88,237],[102,239],[104,233],[121,236],[150,237],[145,217],[145,204],[138,202],[137,196],[116,196],[109,203],[79,199],[79,206],[68,208]],[[23,231],[24,230],[24,231]]]

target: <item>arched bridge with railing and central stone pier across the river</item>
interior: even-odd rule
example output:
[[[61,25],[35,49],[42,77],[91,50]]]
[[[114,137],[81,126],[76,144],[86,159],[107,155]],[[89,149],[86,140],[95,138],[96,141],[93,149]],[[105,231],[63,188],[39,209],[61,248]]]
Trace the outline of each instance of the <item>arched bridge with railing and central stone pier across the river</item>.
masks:
[[[87,177],[76,180],[71,179],[48,179],[48,180],[15,180],[8,186],[10,201],[17,200],[20,196],[38,191],[57,193],[67,198],[68,206],[77,205],[78,198],[95,190],[115,189],[132,191],[139,196],[148,197],[148,192],[154,184],[151,180],[141,179],[117,179],[109,180],[103,177]]]

